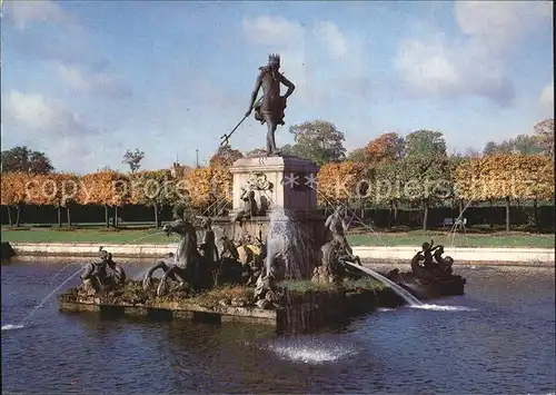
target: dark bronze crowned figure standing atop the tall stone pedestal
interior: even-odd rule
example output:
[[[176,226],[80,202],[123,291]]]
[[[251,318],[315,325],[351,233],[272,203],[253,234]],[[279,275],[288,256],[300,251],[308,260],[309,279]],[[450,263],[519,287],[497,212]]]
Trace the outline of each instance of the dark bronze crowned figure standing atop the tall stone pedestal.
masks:
[[[267,124],[267,155],[269,156],[280,155],[276,148],[275,132],[278,125],[285,124],[284,110],[286,109],[287,99],[296,89],[296,86],[284,77],[284,75],[279,72],[279,69],[280,56],[270,55],[268,57],[268,65],[259,68],[260,72],[251,95],[249,110],[246,112],[246,117],[251,113],[259,89],[262,87],[262,102],[255,107],[255,119],[260,121],[261,125],[265,122]],[[280,96],[280,83],[288,87],[284,96]]]

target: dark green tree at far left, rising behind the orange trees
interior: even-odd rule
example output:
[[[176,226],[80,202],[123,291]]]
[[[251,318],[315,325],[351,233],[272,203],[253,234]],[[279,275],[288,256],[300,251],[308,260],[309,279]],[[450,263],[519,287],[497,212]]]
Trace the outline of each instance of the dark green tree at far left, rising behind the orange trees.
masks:
[[[2,172],[48,174],[54,168],[44,152],[28,147],[14,147],[2,151]]]

